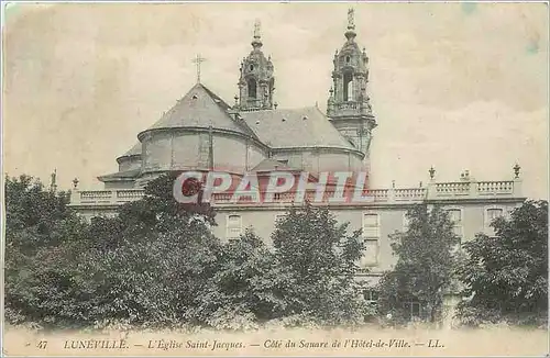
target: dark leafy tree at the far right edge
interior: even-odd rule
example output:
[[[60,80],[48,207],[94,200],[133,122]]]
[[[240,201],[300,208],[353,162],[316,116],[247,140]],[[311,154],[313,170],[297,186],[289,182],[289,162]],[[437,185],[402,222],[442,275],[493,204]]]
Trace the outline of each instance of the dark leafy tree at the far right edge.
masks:
[[[471,300],[459,306],[462,321],[540,322],[548,312],[548,202],[526,201],[491,226],[495,236],[464,244],[458,275]]]

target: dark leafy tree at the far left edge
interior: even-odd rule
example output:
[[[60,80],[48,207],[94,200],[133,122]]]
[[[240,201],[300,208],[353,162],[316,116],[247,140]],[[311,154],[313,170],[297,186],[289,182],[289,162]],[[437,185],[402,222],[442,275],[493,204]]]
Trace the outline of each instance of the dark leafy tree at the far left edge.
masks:
[[[6,179],[6,317],[10,323],[78,320],[72,284],[86,249],[86,223],[67,208],[68,194],[30,176]]]

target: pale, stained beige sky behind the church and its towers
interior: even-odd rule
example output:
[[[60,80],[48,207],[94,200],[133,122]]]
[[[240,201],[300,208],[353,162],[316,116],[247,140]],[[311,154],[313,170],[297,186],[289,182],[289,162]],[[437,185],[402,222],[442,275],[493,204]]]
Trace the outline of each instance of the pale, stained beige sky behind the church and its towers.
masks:
[[[279,108],[324,110],[332,56],[355,9],[378,126],[372,187],[464,169],[548,197],[548,9],[543,3],[18,4],[7,10],[3,171],[100,189],[99,175],[196,82],[233,103],[262,22]]]

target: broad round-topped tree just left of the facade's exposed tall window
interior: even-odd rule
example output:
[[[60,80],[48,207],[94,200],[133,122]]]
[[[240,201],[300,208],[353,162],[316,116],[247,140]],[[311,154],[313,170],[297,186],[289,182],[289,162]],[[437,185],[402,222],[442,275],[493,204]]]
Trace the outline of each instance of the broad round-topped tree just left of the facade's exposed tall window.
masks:
[[[324,325],[361,322],[366,303],[354,275],[362,256],[361,231],[346,234],[327,208],[290,209],[272,240],[277,259],[278,316],[300,315]]]

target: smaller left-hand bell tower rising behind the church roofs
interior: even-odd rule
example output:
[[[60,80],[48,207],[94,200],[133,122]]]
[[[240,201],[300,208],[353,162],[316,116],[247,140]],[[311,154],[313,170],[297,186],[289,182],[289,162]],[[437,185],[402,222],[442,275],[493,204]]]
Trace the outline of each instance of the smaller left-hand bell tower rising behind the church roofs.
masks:
[[[271,110],[273,108],[273,92],[275,91],[273,63],[271,56],[265,58],[262,45],[260,22],[256,21],[252,52],[241,63],[238,110],[254,111]]]

